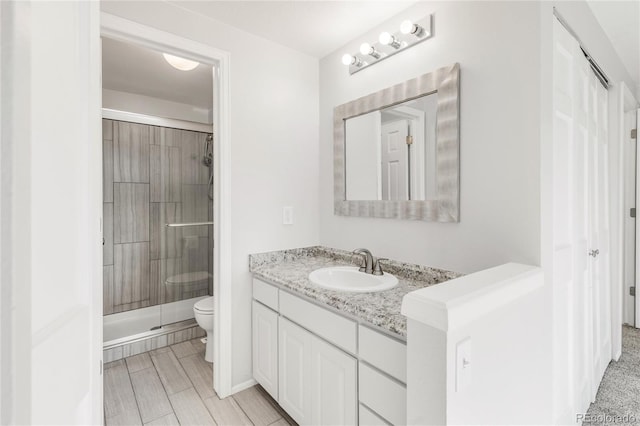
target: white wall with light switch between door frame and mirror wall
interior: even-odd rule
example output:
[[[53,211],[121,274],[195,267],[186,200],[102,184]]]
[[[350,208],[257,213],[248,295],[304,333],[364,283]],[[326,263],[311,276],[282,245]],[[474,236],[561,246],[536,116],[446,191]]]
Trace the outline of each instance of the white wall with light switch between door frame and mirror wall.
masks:
[[[122,18],[226,50],[233,300],[233,384],[252,379],[248,254],[318,237],[318,60],[166,2],[103,2]],[[282,225],[293,206],[294,225]]]

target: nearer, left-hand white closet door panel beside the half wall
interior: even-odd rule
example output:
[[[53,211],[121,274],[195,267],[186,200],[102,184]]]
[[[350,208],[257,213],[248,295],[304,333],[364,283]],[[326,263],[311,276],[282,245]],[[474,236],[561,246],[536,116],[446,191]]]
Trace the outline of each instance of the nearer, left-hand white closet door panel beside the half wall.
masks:
[[[554,22],[553,287],[554,402],[590,403],[588,65],[578,42]],[[581,57],[582,56],[582,57]]]

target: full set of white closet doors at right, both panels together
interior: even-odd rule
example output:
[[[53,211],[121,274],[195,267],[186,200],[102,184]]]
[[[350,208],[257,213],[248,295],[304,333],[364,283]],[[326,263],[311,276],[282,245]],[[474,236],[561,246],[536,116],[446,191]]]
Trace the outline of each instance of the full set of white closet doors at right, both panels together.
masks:
[[[554,400],[586,413],[611,359],[607,91],[554,24]]]

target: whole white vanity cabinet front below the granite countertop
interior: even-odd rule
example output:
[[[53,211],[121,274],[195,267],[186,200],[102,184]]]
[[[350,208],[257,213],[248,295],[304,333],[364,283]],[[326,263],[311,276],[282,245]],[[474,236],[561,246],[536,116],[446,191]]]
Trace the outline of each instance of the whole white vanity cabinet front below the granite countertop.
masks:
[[[404,342],[260,280],[253,289],[253,375],[296,422],[406,422]]]

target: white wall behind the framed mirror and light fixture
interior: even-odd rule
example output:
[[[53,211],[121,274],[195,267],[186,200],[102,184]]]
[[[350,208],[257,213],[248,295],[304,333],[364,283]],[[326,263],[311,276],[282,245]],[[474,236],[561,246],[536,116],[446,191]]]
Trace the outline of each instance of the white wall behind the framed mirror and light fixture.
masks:
[[[340,62],[403,19],[433,13],[434,37],[349,75]],[[538,264],[539,37],[531,2],[425,2],[320,61],[320,242],[376,256],[472,272],[508,261]],[[460,223],[333,214],[333,108],[459,62]]]

